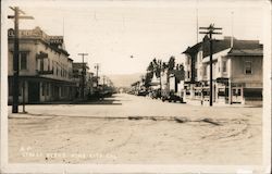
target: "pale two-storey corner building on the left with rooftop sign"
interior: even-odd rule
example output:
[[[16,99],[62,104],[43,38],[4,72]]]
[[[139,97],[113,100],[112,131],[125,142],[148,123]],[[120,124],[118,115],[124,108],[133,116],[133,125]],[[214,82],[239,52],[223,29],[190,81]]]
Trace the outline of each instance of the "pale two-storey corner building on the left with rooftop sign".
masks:
[[[39,27],[20,33],[20,102],[71,100],[75,92],[73,60],[63,36],[49,36]],[[12,102],[14,30],[9,29],[9,103]],[[24,95],[23,95],[24,94]]]

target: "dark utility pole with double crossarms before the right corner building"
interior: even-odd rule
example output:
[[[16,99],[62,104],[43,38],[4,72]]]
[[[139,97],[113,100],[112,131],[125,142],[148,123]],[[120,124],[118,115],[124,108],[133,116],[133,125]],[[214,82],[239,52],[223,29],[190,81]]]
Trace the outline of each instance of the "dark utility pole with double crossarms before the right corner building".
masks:
[[[206,29],[207,32],[199,32],[199,34],[209,34],[210,37],[210,107],[212,107],[212,35],[221,35],[222,33],[214,30],[221,30],[222,28],[214,27],[214,24],[210,24],[209,27],[199,27],[199,29]]]

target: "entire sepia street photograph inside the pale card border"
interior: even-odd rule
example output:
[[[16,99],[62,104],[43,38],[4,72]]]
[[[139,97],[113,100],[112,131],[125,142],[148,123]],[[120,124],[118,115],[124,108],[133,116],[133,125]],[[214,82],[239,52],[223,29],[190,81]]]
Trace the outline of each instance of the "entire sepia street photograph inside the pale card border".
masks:
[[[9,163],[262,165],[265,13],[242,4],[5,1]]]

